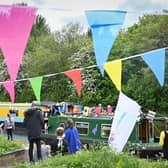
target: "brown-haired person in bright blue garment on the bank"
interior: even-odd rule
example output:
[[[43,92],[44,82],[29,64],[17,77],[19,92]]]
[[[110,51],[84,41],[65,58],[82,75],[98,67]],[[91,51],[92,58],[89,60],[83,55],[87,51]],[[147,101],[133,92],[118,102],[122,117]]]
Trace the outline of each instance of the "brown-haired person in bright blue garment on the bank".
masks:
[[[68,141],[69,152],[76,153],[81,150],[80,139],[78,135],[78,130],[74,127],[74,122],[72,119],[67,120],[67,128],[65,131],[65,139]]]

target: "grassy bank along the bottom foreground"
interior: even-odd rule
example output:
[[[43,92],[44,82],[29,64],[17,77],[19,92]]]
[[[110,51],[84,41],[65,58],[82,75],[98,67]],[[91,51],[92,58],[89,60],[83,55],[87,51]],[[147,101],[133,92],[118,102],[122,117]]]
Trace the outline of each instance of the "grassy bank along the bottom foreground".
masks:
[[[55,156],[37,164],[24,163],[17,168],[166,168],[168,161],[142,160],[128,154],[116,155],[107,149],[82,151],[75,155]]]

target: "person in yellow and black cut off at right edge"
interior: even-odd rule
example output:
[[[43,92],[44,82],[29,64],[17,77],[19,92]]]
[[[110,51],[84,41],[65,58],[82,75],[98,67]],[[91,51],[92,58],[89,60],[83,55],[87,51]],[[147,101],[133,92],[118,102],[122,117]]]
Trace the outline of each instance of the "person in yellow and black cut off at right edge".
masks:
[[[165,125],[165,130],[160,133],[159,144],[162,146],[164,159],[168,159],[168,122]]]

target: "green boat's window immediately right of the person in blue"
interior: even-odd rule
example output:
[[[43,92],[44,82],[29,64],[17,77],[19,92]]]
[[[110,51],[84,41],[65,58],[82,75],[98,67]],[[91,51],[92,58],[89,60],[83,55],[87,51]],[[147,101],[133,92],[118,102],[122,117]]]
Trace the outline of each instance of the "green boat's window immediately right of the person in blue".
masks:
[[[79,135],[88,135],[89,123],[87,122],[75,122],[75,126],[78,129]]]

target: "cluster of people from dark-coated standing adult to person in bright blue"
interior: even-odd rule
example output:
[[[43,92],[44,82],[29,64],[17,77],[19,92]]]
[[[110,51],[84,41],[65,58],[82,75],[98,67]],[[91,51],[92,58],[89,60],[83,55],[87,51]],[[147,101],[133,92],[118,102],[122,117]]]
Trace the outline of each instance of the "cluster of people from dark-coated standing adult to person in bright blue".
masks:
[[[67,120],[67,126],[64,128],[60,126],[56,129],[56,138],[50,141],[47,145],[50,146],[50,152],[45,148],[45,142],[41,142],[41,131],[44,125],[44,118],[40,108],[32,103],[32,107],[24,113],[24,125],[27,129],[27,136],[29,141],[29,159],[34,162],[35,156],[37,160],[54,156],[58,153],[62,155],[73,154],[81,150],[80,139],[77,128],[74,127],[72,119]],[[36,153],[34,155],[34,144],[36,144]],[[43,147],[42,147],[43,144]],[[45,149],[44,149],[45,148]]]

